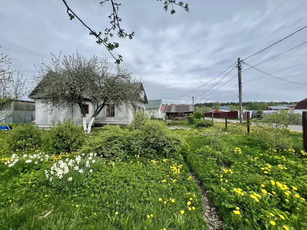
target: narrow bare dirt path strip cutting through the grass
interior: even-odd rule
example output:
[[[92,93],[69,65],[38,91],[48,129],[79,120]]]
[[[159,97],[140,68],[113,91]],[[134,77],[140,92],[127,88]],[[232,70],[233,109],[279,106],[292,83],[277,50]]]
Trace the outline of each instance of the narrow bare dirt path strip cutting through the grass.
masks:
[[[214,207],[213,201],[211,200],[208,191],[203,185],[203,182],[198,178],[198,176],[190,170],[190,175],[196,181],[199,187],[200,194],[203,197],[203,218],[208,225],[210,230],[220,230],[223,224],[222,218],[218,214],[216,208]]]

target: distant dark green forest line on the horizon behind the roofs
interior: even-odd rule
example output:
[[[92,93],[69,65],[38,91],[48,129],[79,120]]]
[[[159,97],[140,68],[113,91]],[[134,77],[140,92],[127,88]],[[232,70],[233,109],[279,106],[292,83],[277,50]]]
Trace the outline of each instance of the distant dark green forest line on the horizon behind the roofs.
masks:
[[[212,107],[212,103],[217,104],[218,102],[204,102],[203,105],[203,111],[206,112],[209,111],[209,108]],[[242,102],[243,109],[246,110],[265,110],[267,106],[276,106],[276,105],[296,105],[297,102]],[[239,109],[239,102],[220,102],[221,106],[228,105],[232,110],[238,110]],[[196,103],[195,109],[201,110],[201,104]]]

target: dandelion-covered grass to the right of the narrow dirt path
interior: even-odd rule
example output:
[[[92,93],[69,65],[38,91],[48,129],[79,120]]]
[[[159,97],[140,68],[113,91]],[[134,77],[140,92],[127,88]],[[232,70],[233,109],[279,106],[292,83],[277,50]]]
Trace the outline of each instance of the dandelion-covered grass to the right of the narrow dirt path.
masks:
[[[204,130],[176,131],[185,136],[182,154],[209,191],[226,228],[307,229],[305,152],[267,149],[238,130],[218,138],[200,136]]]

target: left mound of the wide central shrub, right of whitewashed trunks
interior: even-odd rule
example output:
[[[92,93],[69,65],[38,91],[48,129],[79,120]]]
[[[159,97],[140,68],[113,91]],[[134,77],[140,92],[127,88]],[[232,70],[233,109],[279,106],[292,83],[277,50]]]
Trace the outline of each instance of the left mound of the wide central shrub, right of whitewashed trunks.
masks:
[[[128,149],[127,131],[118,125],[106,125],[101,128],[98,135],[87,141],[82,152],[93,152],[103,157],[122,157],[127,154]]]

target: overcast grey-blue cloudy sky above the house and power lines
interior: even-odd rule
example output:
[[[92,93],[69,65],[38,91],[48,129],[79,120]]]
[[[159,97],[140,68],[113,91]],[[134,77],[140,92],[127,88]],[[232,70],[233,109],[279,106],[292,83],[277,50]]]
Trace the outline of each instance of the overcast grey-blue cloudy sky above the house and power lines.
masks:
[[[148,99],[190,103],[194,96],[195,103],[238,102],[238,89],[235,90],[238,78],[222,86],[237,74],[237,68],[221,81],[228,71],[200,89],[168,101],[213,79],[234,64],[238,57],[241,60],[247,58],[307,25],[306,0],[187,1],[189,13],[176,7],[176,13],[171,15],[163,10],[163,2],[156,0],[118,0],[122,3],[119,10],[119,17],[123,20],[121,27],[126,32],[134,31],[135,36],[133,40],[115,39],[120,46],[114,54],[121,54],[122,66],[133,71],[136,78],[142,78]],[[103,31],[110,25],[107,15],[111,6],[107,2],[102,7],[99,2],[67,0],[88,26]],[[69,55],[77,49],[86,57],[107,55],[114,63],[104,46],[89,36],[89,31],[80,21],[69,20],[62,0],[2,1],[0,18],[0,52],[7,53],[12,61],[11,67],[26,78],[33,75],[34,64],[40,65],[42,58],[50,62],[50,53]],[[307,28],[247,59],[246,63],[255,65],[294,44],[301,44],[299,42],[304,39],[307,40]],[[307,61],[306,53],[307,43],[257,68],[273,73]],[[242,67],[243,71],[248,68],[244,64]],[[274,75],[307,83],[306,70],[307,63],[303,63]],[[250,69],[242,73],[242,82],[263,75]],[[284,82],[271,76],[242,85],[243,101],[300,101],[307,97],[306,85]],[[212,86],[212,90],[204,93]]]

